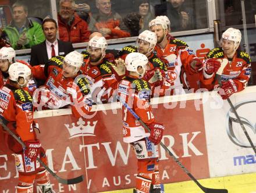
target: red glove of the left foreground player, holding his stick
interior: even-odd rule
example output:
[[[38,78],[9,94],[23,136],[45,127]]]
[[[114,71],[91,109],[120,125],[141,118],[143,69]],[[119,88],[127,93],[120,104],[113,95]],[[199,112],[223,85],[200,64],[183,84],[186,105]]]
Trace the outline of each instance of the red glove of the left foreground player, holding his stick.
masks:
[[[41,143],[39,140],[31,140],[31,141],[24,141],[26,145],[25,149],[25,156],[31,159],[31,162],[34,162],[40,151],[41,151]]]

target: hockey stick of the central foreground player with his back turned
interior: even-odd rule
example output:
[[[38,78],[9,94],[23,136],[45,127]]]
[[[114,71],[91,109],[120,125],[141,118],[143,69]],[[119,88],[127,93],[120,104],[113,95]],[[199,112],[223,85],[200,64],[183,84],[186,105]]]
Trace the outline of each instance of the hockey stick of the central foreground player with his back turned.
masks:
[[[127,110],[129,110],[129,112],[131,113],[131,115],[133,115],[134,118],[135,118],[136,120],[138,120],[138,121],[140,122],[140,124],[141,124],[146,130],[150,131],[150,128],[148,128],[148,126],[140,119],[140,117],[133,111],[133,109],[131,109],[131,108],[129,107],[129,105],[128,105],[125,101],[123,101],[123,100],[120,98],[120,96],[117,96],[117,97],[118,97],[120,103],[122,103],[122,105],[125,106],[125,108],[126,108]],[[202,191],[204,191],[205,193],[227,193],[227,192],[228,192],[226,189],[214,189],[214,188],[207,188],[207,187],[202,186],[202,185],[197,181],[197,179],[195,179],[195,177],[192,176],[192,174],[189,172],[189,170],[187,170],[186,167],[182,165],[182,163],[179,161],[179,159],[177,159],[177,158],[175,157],[175,155],[173,155],[173,153],[170,152],[170,150],[167,148],[167,146],[165,146],[162,142],[160,142],[160,145],[163,147],[163,149],[165,149],[166,152],[169,153],[169,155],[172,157],[172,159],[174,159],[175,162],[183,169],[183,171],[187,174],[187,176],[189,176],[189,177],[194,181],[194,183],[197,184],[198,187],[201,188]]]

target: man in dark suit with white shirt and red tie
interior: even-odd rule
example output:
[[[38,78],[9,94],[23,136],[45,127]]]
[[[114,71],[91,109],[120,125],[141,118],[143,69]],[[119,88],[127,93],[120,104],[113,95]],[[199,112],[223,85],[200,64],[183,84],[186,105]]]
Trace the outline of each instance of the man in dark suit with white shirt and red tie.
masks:
[[[74,51],[71,42],[56,38],[58,26],[54,19],[45,19],[42,22],[42,31],[46,40],[31,48],[31,66],[44,65],[52,56],[66,56],[67,53]]]

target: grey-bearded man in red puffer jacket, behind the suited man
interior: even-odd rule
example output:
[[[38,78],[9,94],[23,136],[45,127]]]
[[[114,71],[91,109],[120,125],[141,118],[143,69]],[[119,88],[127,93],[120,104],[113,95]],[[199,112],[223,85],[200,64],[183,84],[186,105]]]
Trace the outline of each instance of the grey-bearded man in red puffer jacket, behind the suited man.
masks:
[[[74,8],[74,0],[59,1],[59,38],[72,43],[86,42],[91,34],[88,24],[74,13]]]

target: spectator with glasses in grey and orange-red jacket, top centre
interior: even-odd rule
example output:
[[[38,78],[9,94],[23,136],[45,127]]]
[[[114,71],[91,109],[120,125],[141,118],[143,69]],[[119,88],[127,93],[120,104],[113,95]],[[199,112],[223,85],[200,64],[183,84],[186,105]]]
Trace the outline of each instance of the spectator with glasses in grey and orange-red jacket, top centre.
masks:
[[[91,31],[99,31],[106,39],[130,37],[123,30],[122,17],[111,10],[111,0],[95,0],[95,3],[98,13],[91,18]]]

